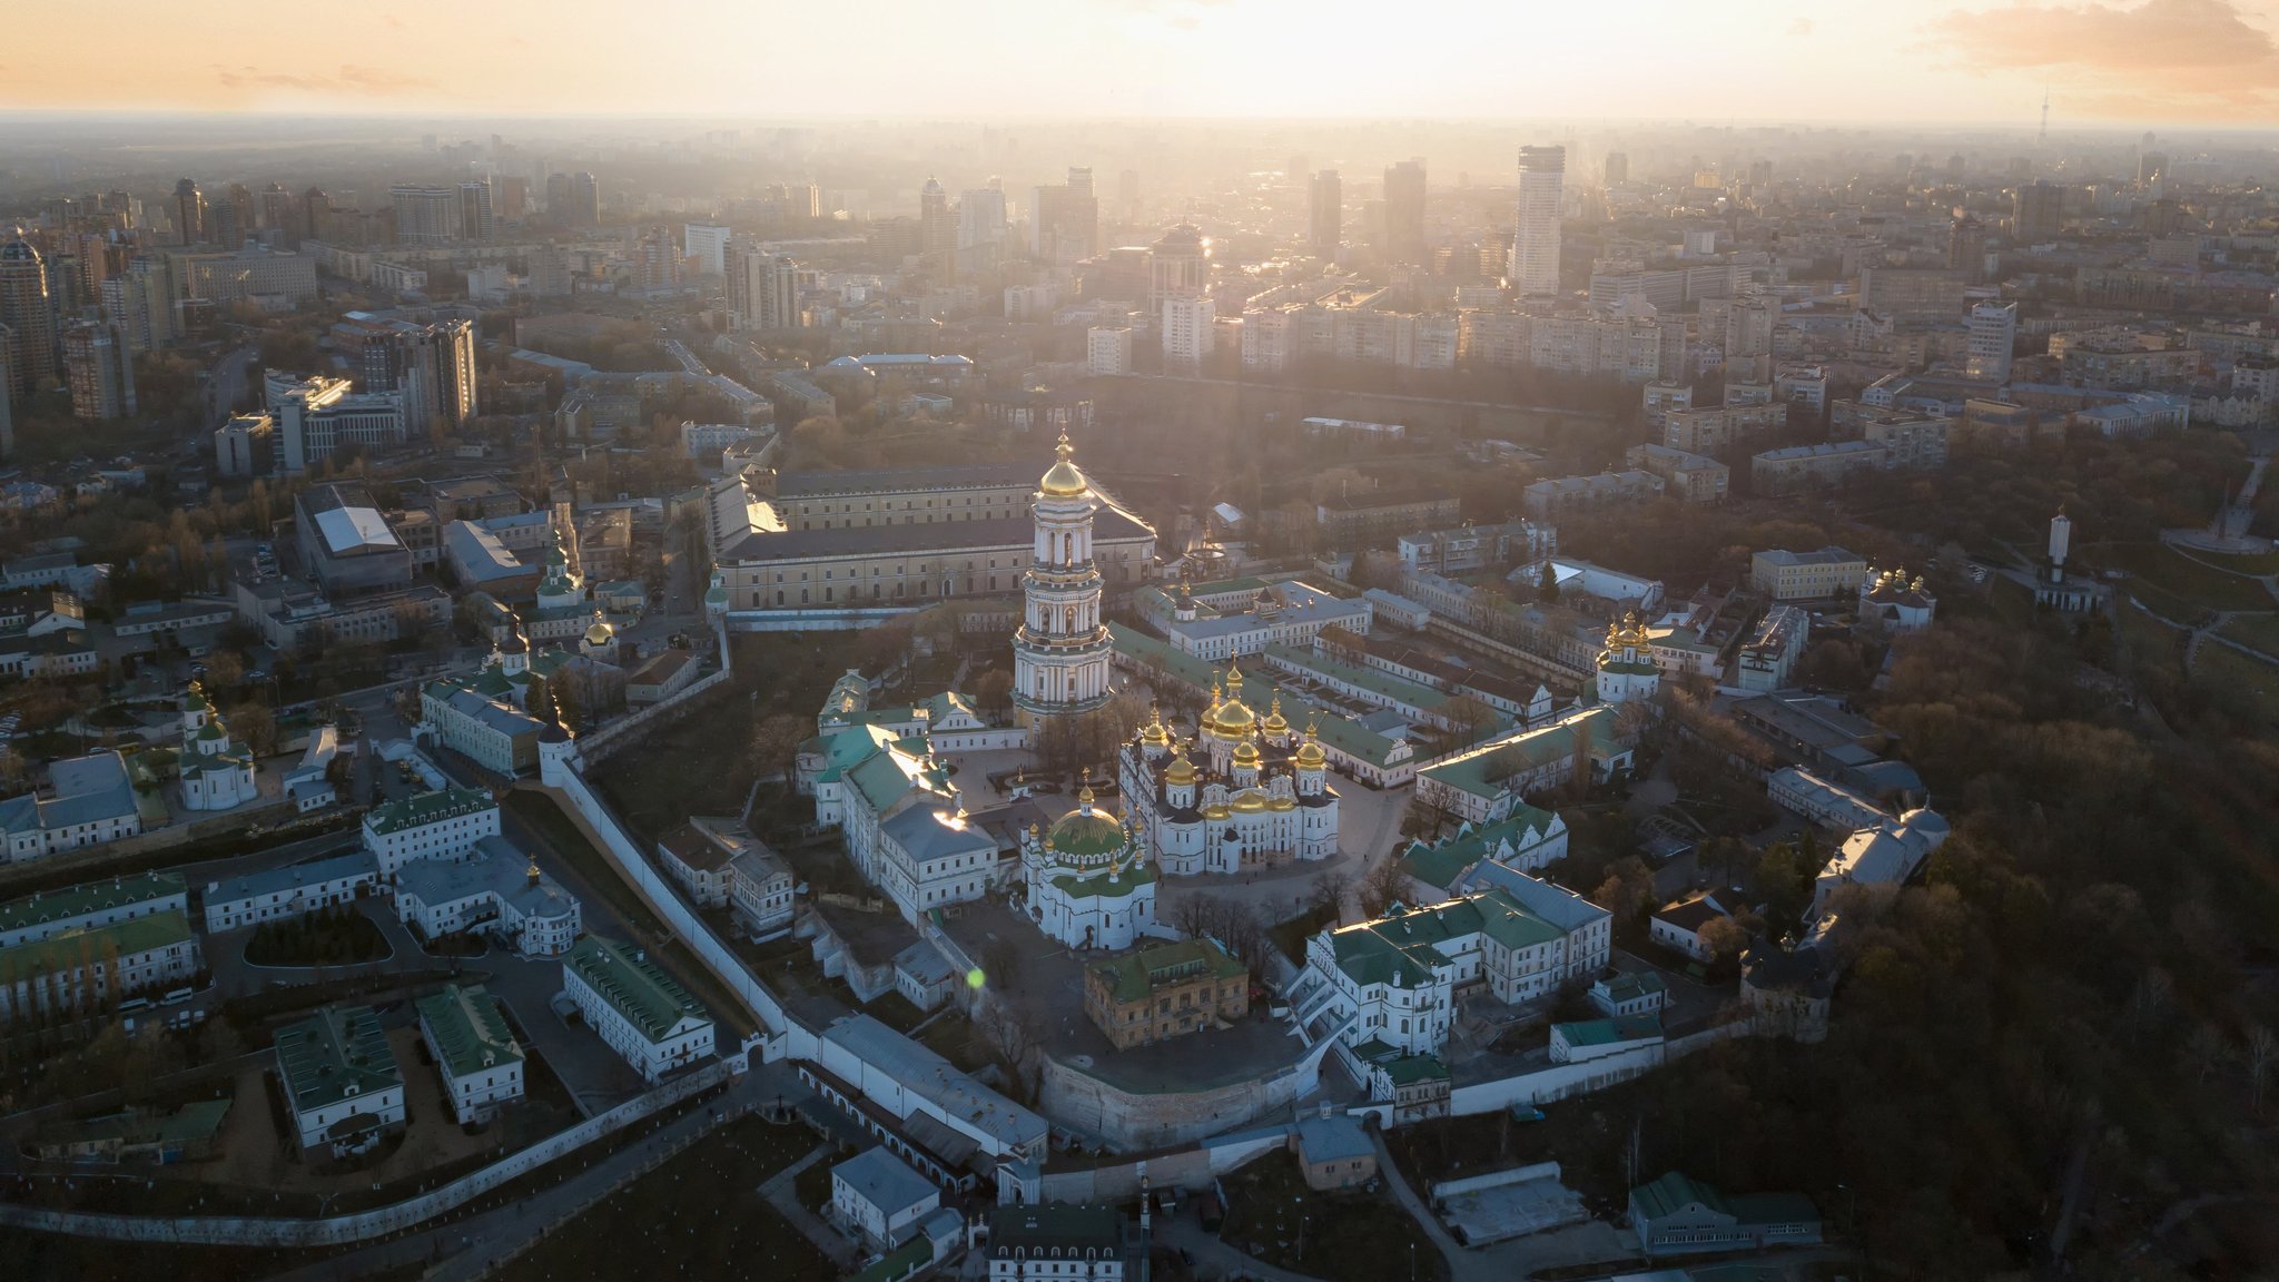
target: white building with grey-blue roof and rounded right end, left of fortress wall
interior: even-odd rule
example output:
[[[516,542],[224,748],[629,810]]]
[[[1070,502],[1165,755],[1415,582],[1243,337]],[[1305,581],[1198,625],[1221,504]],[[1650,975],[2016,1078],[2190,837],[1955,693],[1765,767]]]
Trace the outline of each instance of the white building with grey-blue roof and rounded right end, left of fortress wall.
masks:
[[[583,924],[579,901],[506,837],[483,837],[458,860],[412,860],[397,871],[397,919],[440,940],[481,931],[526,958],[558,958]]]

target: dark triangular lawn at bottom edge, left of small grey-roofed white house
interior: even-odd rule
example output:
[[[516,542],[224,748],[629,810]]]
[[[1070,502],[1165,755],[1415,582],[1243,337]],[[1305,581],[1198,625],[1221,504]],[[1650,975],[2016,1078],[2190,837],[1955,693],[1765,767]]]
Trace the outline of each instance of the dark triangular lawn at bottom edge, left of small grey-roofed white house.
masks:
[[[738,1118],[554,1230],[497,1277],[836,1277],[759,1198],[763,1179],[814,1145],[804,1127]]]

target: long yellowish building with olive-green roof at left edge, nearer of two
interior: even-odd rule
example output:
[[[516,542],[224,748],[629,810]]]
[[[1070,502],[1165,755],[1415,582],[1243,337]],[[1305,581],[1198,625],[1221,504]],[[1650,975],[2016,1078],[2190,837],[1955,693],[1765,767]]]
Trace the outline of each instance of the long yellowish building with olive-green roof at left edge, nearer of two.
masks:
[[[62,931],[0,949],[0,1024],[96,1013],[198,974],[198,938],[180,910]]]

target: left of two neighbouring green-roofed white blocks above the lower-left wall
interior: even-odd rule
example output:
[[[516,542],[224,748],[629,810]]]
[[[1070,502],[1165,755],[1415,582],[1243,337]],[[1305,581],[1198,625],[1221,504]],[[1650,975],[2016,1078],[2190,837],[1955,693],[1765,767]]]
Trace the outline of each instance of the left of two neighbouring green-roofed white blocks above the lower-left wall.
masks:
[[[278,1084],[301,1147],[365,1152],[403,1125],[403,1070],[371,1006],[326,1006],[276,1036]]]

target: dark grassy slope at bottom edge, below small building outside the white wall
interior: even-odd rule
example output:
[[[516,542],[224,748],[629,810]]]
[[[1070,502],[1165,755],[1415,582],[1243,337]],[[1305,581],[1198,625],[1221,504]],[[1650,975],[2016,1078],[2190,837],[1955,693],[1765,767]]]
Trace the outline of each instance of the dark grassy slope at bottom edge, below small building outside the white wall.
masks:
[[[1276,1268],[1329,1282],[1438,1282],[1447,1264],[1386,1193],[1315,1193],[1297,1154],[1274,1152],[1226,1177],[1219,1241]]]

